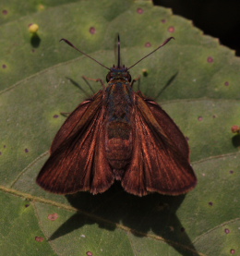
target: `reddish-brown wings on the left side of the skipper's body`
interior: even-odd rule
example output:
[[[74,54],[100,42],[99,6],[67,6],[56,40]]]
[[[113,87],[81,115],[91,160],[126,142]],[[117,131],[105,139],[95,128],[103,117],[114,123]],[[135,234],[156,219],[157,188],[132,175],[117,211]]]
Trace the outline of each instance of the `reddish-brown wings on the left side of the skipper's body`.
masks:
[[[97,194],[109,189],[114,174],[105,155],[104,126],[101,92],[68,116],[54,138],[37,183],[59,194],[80,190]]]

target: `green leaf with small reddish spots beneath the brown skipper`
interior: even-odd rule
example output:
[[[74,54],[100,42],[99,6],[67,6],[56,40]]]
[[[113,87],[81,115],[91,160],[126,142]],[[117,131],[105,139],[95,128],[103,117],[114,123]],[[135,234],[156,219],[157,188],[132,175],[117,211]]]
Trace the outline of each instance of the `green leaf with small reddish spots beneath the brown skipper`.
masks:
[[[239,58],[185,18],[150,1],[0,4],[0,248],[3,255],[231,255],[240,251]],[[29,24],[39,26],[30,34]],[[119,184],[58,196],[35,184],[54,134],[122,61],[189,139],[198,186],[186,196],[138,198]],[[143,76],[143,70],[147,76]],[[78,86],[76,86],[78,85]],[[234,251],[233,251],[234,250]]]

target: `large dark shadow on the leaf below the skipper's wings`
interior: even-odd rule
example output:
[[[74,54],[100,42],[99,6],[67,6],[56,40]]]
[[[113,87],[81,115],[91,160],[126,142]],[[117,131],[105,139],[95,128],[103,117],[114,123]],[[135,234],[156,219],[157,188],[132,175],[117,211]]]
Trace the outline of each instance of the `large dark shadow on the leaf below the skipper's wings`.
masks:
[[[111,189],[102,194],[78,192],[66,195],[66,199],[78,212],[60,226],[49,240],[65,236],[82,226],[97,224],[108,231],[122,228],[136,237],[157,236],[181,255],[199,255],[176,215],[185,195],[153,193],[140,198],[126,193],[120,183],[115,182]]]

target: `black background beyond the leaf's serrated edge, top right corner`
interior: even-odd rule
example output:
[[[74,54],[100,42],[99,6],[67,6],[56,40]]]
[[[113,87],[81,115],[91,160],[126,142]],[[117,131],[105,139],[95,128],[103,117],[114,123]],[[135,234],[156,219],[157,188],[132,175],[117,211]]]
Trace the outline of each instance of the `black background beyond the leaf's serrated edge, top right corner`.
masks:
[[[198,29],[240,55],[240,0],[153,0],[153,4],[191,19]]]

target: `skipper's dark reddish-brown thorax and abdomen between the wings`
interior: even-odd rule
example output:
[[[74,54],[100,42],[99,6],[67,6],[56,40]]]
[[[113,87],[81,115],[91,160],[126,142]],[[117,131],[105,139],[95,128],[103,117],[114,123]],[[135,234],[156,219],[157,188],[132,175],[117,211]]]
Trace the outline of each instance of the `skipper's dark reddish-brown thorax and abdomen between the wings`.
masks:
[[[133,97],[131,84],[121,78],[112,78],[106,88],[105,150],[116,179],[121,179],[133,151]]]

